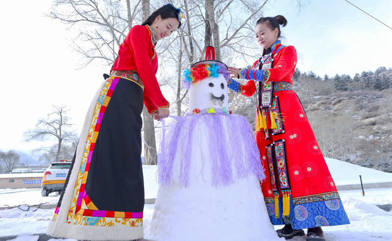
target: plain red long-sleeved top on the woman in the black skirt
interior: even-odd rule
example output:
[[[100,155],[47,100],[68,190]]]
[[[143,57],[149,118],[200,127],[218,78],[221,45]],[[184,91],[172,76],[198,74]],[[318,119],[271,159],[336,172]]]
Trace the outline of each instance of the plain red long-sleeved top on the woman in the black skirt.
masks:
[[[138,72],[144,85],[144,104],[148,113],[158,108],[169,108],[169,102],[162,95],[156,79],[158,58],[152,43],[152,33],[147,25],[135,25],[131,28],[119,49],[119,57],[110,70]]]

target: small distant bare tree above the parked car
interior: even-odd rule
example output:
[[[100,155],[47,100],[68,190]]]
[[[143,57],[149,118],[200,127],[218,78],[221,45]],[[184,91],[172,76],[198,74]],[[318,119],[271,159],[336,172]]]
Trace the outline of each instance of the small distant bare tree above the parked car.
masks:
[[[72,143],[77,140],[77,136],[72,129],[72,126],[75,124],[71,123],[71,118],[67,114],[70,109],[66,105],[53,105],[53,107],[53,112],[49,113],[46,119],[38,119],[34,128],[25,131],[23,136],[25,142],[56,140],[57,143],[55,145],[42,146],[34,151],[51,153],[50,156],[54,157],[54,160],[59,160],[61,147],[66,143]]]

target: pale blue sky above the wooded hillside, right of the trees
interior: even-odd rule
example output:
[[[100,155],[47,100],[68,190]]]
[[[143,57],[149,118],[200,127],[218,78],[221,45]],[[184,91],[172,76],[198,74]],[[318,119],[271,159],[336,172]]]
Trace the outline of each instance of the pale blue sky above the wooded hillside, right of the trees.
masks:
[[[392,27],[391,0],[349,0],[370,15]],[[296,14],[290,0],[275,1],[267,16],[283,15],[282,28],[287,45],[303,54],[300,71],[320,76],[375,71],[392,67],[392,29],[377,22],[344,0],[313,0]]]

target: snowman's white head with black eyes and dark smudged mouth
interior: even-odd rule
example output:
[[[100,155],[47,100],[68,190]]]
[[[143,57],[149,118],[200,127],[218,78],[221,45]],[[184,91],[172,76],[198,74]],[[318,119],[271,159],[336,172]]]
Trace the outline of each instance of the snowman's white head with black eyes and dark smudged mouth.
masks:
[[[189,109],[228,108],[227,82],[223,75],[207,77],[189,89]]]

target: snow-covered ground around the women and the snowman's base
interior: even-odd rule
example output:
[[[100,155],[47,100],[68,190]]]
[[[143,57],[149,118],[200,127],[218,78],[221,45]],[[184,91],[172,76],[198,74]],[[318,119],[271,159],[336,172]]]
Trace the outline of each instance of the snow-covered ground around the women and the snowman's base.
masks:
[[[358,184],[362,175],[364,183],[392,182],[392,173],[373,169],[365,169],[338,160],[326,159],[336,185]],[[156,197],[156,167],[143,166],[145,177],[146,198]],[[364,178],[366,177],[366,178]],[[9,193],[0,190],[0,206],[17,206],[19,204],[57,203],[59,195],[50,193],[42,197],[40,190],[19,190],[25,192]],[[385,212],[376,207],[378,204],[392,204],[392,188],[366,189],[365,196],[361,190],[340,191],[344,209],[350,219],[350,225],[323,227],[327,241],[382,241],[392,240],[392,211]],[[26,207],[22,206],[22,209]],[[154,205],[145,205],[143,226],[147,230],[151,223]],[[37,241],[38,236],[32,234],[45,233],[54,209],[30,209],[23,211],[18,208],[0,210],[0,237],[20,235],[15,241]],[[280,226],[275,226],[275,229]],[[305,241],[306,237],[295,237],[293,241]],[[53,241],[53,240],[51,240]],[[63,240],[74,241],[74,240]]]

